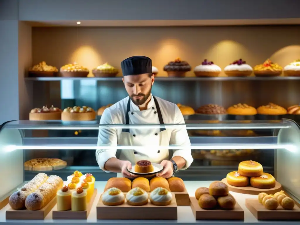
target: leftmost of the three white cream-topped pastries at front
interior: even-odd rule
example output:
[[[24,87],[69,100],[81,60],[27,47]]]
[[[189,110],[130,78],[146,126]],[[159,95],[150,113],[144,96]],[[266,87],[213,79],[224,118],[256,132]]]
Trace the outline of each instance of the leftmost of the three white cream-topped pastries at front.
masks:
[[[111,187],[102,194],[102,203],[104,205],[122,205],[124,200],[123,192],[116,187]]]

